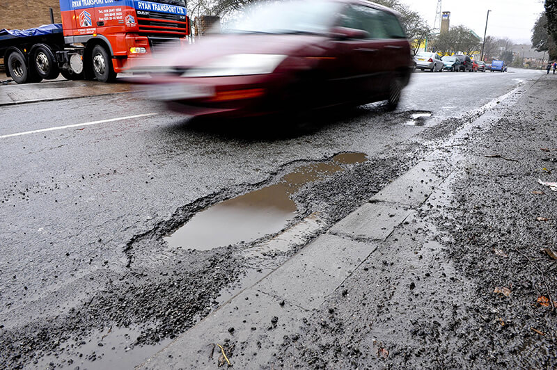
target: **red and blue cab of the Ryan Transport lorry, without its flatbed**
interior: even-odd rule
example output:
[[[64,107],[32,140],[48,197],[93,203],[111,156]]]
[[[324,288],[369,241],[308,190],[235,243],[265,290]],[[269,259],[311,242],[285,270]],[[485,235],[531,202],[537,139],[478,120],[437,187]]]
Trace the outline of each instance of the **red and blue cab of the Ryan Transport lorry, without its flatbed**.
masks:
[[[101,81],[189,35],[185,0],[60,0],[60,8],[65,44],[86,45],[84,61]]]

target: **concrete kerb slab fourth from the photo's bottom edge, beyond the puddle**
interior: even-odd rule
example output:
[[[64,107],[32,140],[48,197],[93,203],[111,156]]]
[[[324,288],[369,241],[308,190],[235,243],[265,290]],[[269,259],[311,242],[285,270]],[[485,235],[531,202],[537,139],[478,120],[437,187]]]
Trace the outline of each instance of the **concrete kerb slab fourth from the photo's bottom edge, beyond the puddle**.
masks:
[[[379,191],[371,200],[419,207],[427,200],[434,187],[441,184],[446,170],[432,161],[422,161]]]

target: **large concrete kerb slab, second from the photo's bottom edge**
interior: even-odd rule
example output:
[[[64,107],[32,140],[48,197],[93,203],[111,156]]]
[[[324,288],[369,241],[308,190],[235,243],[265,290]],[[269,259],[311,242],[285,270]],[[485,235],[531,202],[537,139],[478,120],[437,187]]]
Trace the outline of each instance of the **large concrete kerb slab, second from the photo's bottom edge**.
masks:
[[[254,289],[304,309],[316,309],[377,246],[325,234]]]

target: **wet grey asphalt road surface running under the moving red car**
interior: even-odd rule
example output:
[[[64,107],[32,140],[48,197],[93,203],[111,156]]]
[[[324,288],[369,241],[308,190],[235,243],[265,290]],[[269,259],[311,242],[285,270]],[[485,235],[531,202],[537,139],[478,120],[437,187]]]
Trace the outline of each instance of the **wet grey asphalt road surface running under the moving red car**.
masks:
[[[100,337],[113,323],[139,328],[136,334],[146,335],[146,326],[162,320],[157,309],[166,311],[164,305],[175,300],[175,292],[166,289],[175,283],[165,278],[168,274],[186,281],[201,279],[198,274],[214,273],[214,264],[209,261],[220,258],[221,252],[194,252],[187,257],[184,248],[162,239],[199,211],[279,184],[299,166],[331,161],[343,152],[365,154],[370,163],[383,160],[385,168],[391,163],[392,172],[384,172],[393,175],[421,146],[442,138],[427,135],[428,129],[437,127],[439,131],[433,132],[439,134],[443,131],[440,125],[490,102],[496,104],[497,97],[539,76],[540,72],[523,70],[505,74],[418,72],[395,113],[372,104],[295,129],[273,123],[269,130],[265,125],[272,122],[265,120],[256,128],[192,127],[187,118],[131,94],[1,106],[3,340],[18,340],[42,330],[52,337],[49,348],[58,351],[58,344],[52,343],[74,335],[77,326],[81,325],[80,335],[90,338]],[[423,126],[409,124],[416,111],[431,112],[432,118]],[[393,158],[400,162],[389,161]],[[377,179],[375,186],[387,182],[389,176]],[[357,181],[354,179],[356,186]],[[330,225],[341,216],[338,207],[347,200],[324,194],[318,186],[300,188],[303,195],[295,199],[299,218],[317,210]],[[334,192],[328,187],[325,190]],[[374,190],[378,189],[369,191]],[[340,206],[333,207],[335,202]],[[290,223],[299,220],[294,217]],[[271,228],[265,234],[283,227],[279,223],[276,230]],[[250,239],[227,241],[218,227],[212,232],[219,234],[219,246],[240,244],[245,248],[251,243]],[[261,237],[264,235],[254,236]],[[223,275],[233,275],[234,266],[218,261]],[[187,278],[176,272],[179,268],[186,271]],[[157,312],[149,316],[141,306],[147,303],[141,303],[138,296],[154,281],[165,289],[149,296],[157,299],[156,294],[161,295],[161,307],[155,307]],[[205,293],[203,298],[210,307],[192,308],[193,314],[188,316],[191,322],[217,304],[212,302],[214,289]],[[165,294],[167,297],[162,297]],[[123,296],[125,300],[120,299]],[[116,306],[116,316],[108,313]],[[84,321],[83,312],[91,319]],[[127,316],[127,312],[134,314]],[[55,323],[55,318],[72,327],[49,324]],[[146,343],[165,341],[185,327],[157,332],[156,339]],[[93,328],[100,333],[91,333]],[[41,343],[29,343],[15,360],[3,357],[1,367],[30,361],[41,364],[49,358],[49,353],[36,353]],[[122,355],[120,361],[141,362],[155,349],[130,355],[128,360],[122,360],[126,358]],[[97,360],[88,368],[95,368],[92,364],[104,366]]]

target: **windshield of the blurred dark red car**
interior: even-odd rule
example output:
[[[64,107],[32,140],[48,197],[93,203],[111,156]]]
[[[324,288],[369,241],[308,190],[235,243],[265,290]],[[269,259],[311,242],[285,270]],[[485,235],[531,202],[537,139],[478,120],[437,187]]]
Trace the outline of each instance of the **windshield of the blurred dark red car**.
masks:
[[[260,3],[240,19],[223,27],[223,33],[327,33],[342,3],[336,1],[277,1]]]

